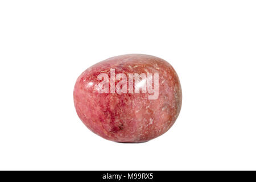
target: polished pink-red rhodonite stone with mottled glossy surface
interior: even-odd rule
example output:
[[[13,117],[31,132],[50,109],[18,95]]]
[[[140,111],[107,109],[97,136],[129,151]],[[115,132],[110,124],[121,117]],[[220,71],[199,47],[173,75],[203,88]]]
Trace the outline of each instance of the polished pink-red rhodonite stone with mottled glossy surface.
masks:
[[[181,108],[174,68],[149,55],[121,55],[94,64],[77,78],[73,97],[88,129],[115,142],[159,137]]]

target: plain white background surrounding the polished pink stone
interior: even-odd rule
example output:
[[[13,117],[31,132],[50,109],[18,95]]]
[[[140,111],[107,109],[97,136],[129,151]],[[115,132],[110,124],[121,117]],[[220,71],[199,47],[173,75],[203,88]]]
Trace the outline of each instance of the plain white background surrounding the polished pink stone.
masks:
[[[126,53],[167,60],[183,89],[146,143],[98,137],[73,106],[80,73]],[[255,68],[255,1],[1,1],[0,169],[256,169]]]

